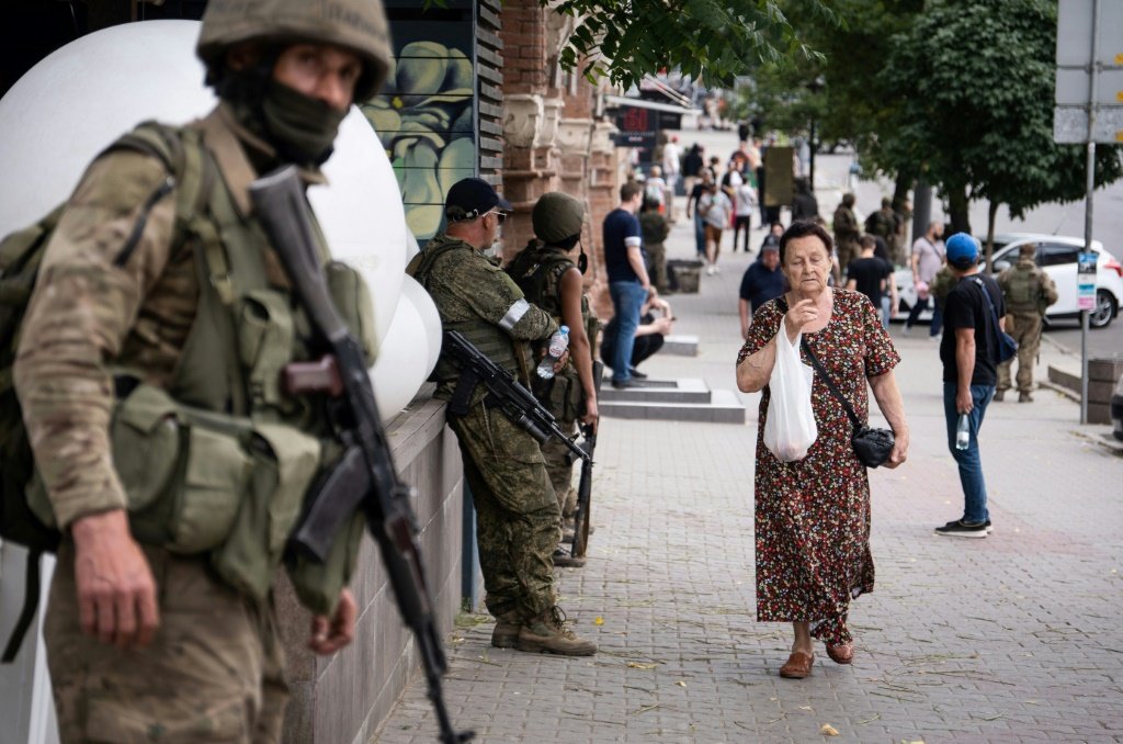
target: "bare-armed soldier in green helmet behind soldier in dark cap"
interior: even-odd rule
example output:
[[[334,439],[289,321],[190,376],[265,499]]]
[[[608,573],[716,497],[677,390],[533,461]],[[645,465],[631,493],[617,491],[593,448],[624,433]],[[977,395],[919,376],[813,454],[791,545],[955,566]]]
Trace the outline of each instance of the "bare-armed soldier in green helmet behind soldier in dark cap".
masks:
[[[576,432],[578,419],[595,432],[599,415],[591,337],[595,337],[596,318],[585,296],[582,266],[569,258],[581,239],[585,208],[569,194],[555,191],[538,200],[531,220],[537,239],[515,256],[506,271],[530,302],[546,310],[559,326],[569,327],[568,362],[549,380],[532,375],[531,388],[567,435]],[[581,263],[584,261],[582,252]],[[554,439],[542,445],[542,456],[562,509],[563,533],[572,533],[577,509],[573,460],[568,450]],[[579,568],[585,560],[559,547],[554,552],[554,564]]]

